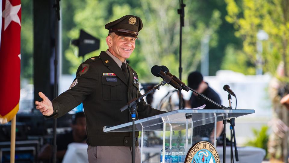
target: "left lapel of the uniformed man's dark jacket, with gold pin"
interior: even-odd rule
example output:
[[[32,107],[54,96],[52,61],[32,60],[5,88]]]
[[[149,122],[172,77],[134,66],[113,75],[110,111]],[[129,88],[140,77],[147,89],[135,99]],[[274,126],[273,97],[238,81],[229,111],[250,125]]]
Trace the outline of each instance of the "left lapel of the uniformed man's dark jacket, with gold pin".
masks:
[[[117,63],[114,62],[114,60],[104,51],[101,51],[99,57],[101,58],[103,64],[107,66],[108,69],[115,73],[120,78],[120,80],[122,80],[127,85],[126,78]]]

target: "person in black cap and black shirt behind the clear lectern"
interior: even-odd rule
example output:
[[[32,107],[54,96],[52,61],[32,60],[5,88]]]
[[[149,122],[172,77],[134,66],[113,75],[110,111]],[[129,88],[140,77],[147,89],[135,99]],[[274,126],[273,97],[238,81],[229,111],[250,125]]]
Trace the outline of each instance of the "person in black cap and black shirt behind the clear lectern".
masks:
[[[210,98],[216,103],[221,104],[221,99],[219,95],[212,88],[209,87],[208,83],[204,82],[203,75],[200,72],[195,71],[189,74],[188,86],[196,90],[197,92],[204,94],[206,97]],[[206,104],[206,107],[204,109],[219,109],[217,106],[210,103],[209,101],[203,98],[198,98],[198,95],[195,94],[194,92],[192,93],[190,100],[185,101],[186,107],[189,108],[200,107],[204,104]],[[222,131],[223,131],[223,122],[219,121],[217,122],[217,131],[216,131],[217,140],[219,136],[222,136],[221,135]],[[197,126],[193,128],[193,140],[195,142],[208,141],[214,143],[213,139],[214,139],[214,123]],[[217,141],[217,145],[219,144],[222,143],[219,143],[219,141]]]

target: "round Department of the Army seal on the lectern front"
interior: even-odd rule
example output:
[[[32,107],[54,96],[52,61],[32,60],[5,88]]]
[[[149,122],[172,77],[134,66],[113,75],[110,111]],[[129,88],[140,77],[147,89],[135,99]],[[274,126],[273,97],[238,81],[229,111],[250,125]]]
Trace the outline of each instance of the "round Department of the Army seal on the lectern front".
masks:
[[[220,163],[220,159],[211,143],[198,142],[188,151],[185,163]]]

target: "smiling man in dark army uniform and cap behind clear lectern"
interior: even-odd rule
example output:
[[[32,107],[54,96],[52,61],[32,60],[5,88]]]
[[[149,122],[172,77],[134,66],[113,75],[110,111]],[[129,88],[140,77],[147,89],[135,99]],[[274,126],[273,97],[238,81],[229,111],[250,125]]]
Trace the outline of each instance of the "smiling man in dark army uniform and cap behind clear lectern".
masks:
[[[87,127],[89,162],[131,162],[132,132],[104,133],[104,126],[116,126],[131,121],[129,110],[119,109],[128,101],[141,96],[137,73],[126,64],[135,49],[135,40],[142,29],[139,17],[126,15],[105,25],[108,50],[83,62],[70,88],[52,102],[42,93],[43,101],[36,101],[36,109],[48,117],[58,118],[83,103]],[[137,118],[161,112],[142,99],[138,103]],[[138,132],[135,132],[138,138]],[[140,162],[136,140],[135,162]]]

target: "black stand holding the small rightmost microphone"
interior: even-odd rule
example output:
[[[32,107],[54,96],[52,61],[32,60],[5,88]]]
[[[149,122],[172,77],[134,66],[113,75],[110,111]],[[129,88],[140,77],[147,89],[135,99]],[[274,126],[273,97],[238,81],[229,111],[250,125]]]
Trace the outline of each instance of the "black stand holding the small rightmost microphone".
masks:
[[[229,100],[229,105],[230,107],[228,107],[229,109],[232,109],[231,106],[231,94],[228,94],[228,100]],[[236,145],[236,137],[235,137],[235,118],[231,118],[230,120],[227,120],[228,123],[230,123],[230,131],[231,131],[231,140],[230,140],[230,144],[231,144],[231,163],[234,163],[234,154],[233,154],[233,139],[234,139],[234,146],[235,146],[235,158],[236,161],[239,161],[239,156],[238,156],[238,150],[237,150],[237,145]]]

